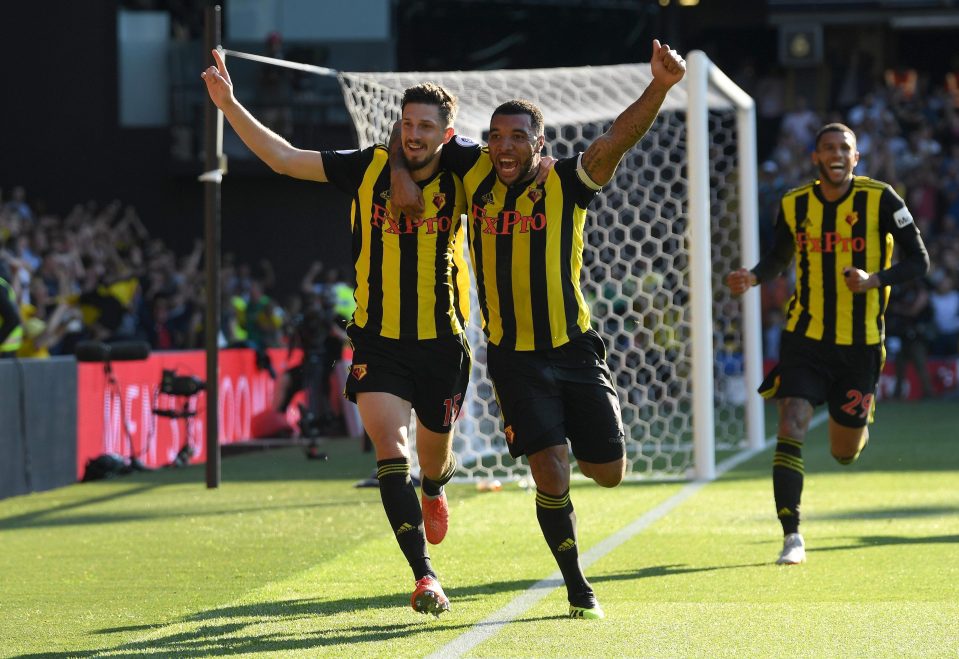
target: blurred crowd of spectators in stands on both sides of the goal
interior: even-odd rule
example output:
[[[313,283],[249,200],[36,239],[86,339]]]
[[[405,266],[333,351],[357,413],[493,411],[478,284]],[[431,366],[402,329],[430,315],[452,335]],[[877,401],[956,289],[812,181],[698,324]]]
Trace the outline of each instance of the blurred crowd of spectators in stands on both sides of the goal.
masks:
[[[841,121],[856,132],[858,174],[890,183],[906,200],[929,249],[932,268],[916,285],[893,290],[887,348],[900,368],[914,362],[924,395],[932,385],[928,356],[959,354],[959,86],[950,78],[890,72],[839,107],[816,110],[797,95],[785,99],[781,78],[741,76],[757,99],[761,242],[768,246],[783,193],[815,178],[810,152],[815,131]],[[778,83],[777,83],[778,81]],[[955,82],[954,80],[952,81]],[[197,242],[176,254],[152,237],[130,206],[78,204],[65,217],[32,206],[22,188],[0,191],[0,267],[14,286],[23,321],[19,354],[70,354],[85,339],[142,339],[154,350],[201,348],[204,280]],[[311,264],[299,289],[282,301],[267,260],[256,266],[224,255],[220,345],[286,345],[291,321],[317,297],[352,312],[352,289],[335,269]],[[785,278],[763,286],[764,355],[778,357]]]

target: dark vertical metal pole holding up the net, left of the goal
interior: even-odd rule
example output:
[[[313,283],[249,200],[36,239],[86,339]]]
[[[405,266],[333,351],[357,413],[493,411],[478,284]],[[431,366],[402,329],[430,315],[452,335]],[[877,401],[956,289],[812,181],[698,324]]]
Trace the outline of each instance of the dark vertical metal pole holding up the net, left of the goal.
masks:
[[[205,10],[204,61],[213,64],[212,50],[220,45],[220,7],[209,6]],[[206,318],[204,321],[206,343],[206,486],[220,486],[220,395],[219,395],[219,347],[220,328],[220,154],[217,127],[220,111],[209,98],[204,112],[204,241],[206,259]]]

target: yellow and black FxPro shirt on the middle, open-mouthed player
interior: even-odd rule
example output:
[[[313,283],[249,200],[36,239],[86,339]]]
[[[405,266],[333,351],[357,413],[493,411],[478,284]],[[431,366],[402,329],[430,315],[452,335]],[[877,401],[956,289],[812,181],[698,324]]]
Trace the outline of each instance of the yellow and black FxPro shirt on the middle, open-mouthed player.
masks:
[[[578,169],[556,163],[542,185],[506,186],[486,147],[456,137],[443,163],[463,179],[469,244],[483,329],[494,345],[542,350],[589,329],[579,287],[586,206],[600,190]]]

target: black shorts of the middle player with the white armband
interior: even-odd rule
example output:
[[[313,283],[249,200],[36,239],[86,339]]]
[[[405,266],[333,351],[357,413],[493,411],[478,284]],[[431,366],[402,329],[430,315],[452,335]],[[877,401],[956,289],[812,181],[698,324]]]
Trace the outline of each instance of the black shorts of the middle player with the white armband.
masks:
[[[596,332],[549,350],[489,344],[486,354],[514,458],[567,438],[577,460],[602,464],[626,454],[619,398]]]

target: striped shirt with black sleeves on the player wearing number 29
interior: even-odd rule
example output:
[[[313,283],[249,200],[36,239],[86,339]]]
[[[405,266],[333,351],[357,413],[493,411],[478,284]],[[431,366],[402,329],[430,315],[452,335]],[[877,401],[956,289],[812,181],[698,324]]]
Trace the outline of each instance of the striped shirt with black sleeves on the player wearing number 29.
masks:
[[[902,254],[892,264],[893,247]],[[834,345],[875,345],[885,329],[889,285],[921,276],[929,257],[903,200],[886,183],[853,178],[849,191],[827,201],[819,181],[790,190],[776,220],[775,243],[753,268],[768,281],[795,258],[796,290],[784,330]],[[879,273],[881,286],[853,293],[843,270]]]

